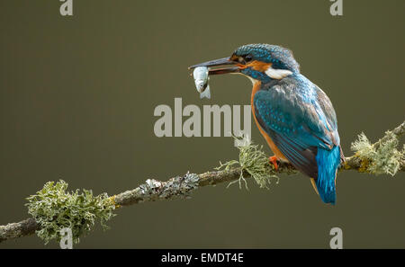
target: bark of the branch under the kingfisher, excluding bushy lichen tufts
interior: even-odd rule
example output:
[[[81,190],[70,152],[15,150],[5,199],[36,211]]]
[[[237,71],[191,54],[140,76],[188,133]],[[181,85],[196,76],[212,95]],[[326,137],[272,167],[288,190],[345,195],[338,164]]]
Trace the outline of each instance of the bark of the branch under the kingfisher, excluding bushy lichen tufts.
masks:
[[[388,132],[387,132],[388,133]],[[400,126],[393,129],[391,133],[396,137],[401,137],[405,133],[405,121]],[[390,139],[387,134],[378,142],[374,143],[372,147],[378,149],[385,142]],[[371,165],[370,160],[365,160],[357,152],[354,156],[346,158],[346,163],[340,167],[340,171],[355,170],[360,173],[370,173],[368,166]],[[271,167],[269,165],[269,167]],[[400,159],[400,172],[405,171],[405,161]],[[293,165],[280,163],[278,170],[273,170],[272,174],[297,174],[298,171],[294,169]],[[240,177],[251,177],[241,166],[230,166],[225,170],[207,172],[204,174],[184,174],[183,176],[176,176],[166,182],[160,182],[154,179],[148,179],[147,182],[139,185],[139,187],[124,191],[120,194],[111,197],[115,203],[116,208],[138,204],[145,201],[155,200],[173,200],[178,198],[189,198],[190,194],[199,187],[215,185],[222,182],[233,182]],[[0,226],[0,243],[22,236],[29,236],[35,231],[40,230],[40,225],[34,218],[27,218],[18,223],[11,223],[6,226]]]

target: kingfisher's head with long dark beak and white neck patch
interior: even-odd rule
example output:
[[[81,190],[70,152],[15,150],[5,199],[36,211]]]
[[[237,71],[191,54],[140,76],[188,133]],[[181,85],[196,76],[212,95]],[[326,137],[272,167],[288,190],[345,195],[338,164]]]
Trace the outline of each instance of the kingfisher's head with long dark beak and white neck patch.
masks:
[[[300,65],[289,49],[268,44],[249,44],[236,49],[229,58],[220,58],[189,67],[215,67],[209,75],[242,74],[252,81],[269,82],[300,72]]]

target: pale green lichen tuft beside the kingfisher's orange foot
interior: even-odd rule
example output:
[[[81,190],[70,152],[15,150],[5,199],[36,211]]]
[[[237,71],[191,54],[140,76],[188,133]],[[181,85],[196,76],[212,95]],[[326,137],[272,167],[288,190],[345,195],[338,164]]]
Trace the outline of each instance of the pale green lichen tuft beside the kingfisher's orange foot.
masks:
[[[247,188],[247,181],[243,177],[244,171],[255,179],[260,188],[268,189],[272,179],[275,179],[276,183],[278,183],[279,178],[275,175],[274,166],[269,164],[268,156],[262,150],[263,146],[259,147],[253,144],[248,137],[237,139],[238,144],[240,144],[238,147],[239,159],[231,160],[225,164],[220,163],[220,166],[216,169],[225,169],[227,171],[232,165],[240,165],[242,172],[240,172],[239,179],[234,181],[239,183],[239,188],[241,188],[242,181],[245,182]],[[229,185],[234,182],[230,182]]]

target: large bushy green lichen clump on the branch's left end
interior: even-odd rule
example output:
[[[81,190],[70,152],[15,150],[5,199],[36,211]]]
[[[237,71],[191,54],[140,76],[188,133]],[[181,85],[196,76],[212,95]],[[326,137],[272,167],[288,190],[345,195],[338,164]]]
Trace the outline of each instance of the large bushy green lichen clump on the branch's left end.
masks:
[[[87,234],[97,220],[103,229],[105,222],[115,216],[115,204],[106,193],[94,196],[92,191],[78,190],[67,192],[67,182],[47,182],[43,189],[27,198],[28,213],[40,225],[36,234],[48,244],[50,240],[60,240],[60,230],[69,227],[73,242]]]

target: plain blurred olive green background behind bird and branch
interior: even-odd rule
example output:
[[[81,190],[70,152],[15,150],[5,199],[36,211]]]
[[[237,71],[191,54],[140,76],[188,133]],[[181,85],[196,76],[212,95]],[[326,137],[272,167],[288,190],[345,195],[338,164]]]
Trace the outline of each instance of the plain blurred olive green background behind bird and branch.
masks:
[[[211,78],[201,101],[187,67],[239,45],[292,49],[302,73],[338,113],[347,156],[356,135],[375,141],[404,120],[405,2],[327,0],[0,2],[0,225],[27,218],[25,197],[49,180],[109,194],[148,178],[202,173],[237,158],[231,138],[157,138],[158,104],[249,104],[242,76]],[[253,123],[253,121],[252,121]],[[265,144],[256,126],[253,139]],[[271,152],[266,147],[269,155]],[[76,248],[328,248],[331,227],[346,248],[405,247],[405,175],[338,175],[325,205],[303,175],[249,191],[226,184],[191,200],[117,210]],[[0,248],[44,246],[37,236]]]

